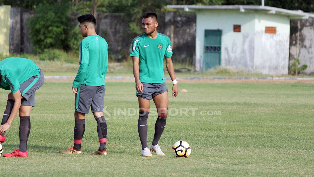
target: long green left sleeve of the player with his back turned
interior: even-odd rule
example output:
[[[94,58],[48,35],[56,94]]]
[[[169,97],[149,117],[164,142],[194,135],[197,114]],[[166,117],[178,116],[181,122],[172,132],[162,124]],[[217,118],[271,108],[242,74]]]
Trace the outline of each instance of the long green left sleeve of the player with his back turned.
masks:
[[[78,88],[81,84],[83,84],[83,81],[86,76],[87,68],[89,63],[89,44],[88,42],[81,40],[80,43],[80,50],[79,50],[79,68],[78,73],[76,74],[76,77],[73,81],[73,88]]]

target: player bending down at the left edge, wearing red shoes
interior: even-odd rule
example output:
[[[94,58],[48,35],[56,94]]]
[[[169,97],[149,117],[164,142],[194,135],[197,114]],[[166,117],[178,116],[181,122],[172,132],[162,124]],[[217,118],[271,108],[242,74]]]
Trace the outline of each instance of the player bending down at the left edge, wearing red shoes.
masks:
[[[11,90],[8,94],[1,126],[0,143],[5,141],[5,132],[10,128],[19,111],[19,149],[3,157],[28,157],[27,140],[30,135],[30,110],[35,106],[35,91],[45,81],[41,69],[26,58],[6,58],[0,62],[0,88]]]

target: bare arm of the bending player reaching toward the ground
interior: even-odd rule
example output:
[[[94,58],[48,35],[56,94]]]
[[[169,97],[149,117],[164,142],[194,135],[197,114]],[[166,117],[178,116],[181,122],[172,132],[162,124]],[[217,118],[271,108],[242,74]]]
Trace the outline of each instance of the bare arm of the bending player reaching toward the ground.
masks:
[[[21,96],[20,91],[17,90],[16,92],[12,93],[12,96],[14,99],[13,109],[11,111],[11,114],[9,116],[7,123],[0,126],[0,134],[2,134],[4,131],[7,131],[10,128],[15,116],[17,115],[17,113],[19,111],[19,108],[21,107],[21,99],[23,97]]]

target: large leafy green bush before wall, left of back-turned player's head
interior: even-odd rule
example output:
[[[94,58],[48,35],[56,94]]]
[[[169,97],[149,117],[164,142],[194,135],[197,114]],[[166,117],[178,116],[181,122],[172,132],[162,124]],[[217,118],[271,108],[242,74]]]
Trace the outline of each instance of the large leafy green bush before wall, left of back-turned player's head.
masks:
[[[42,53],[48,48],[71,50],[74,46],[71,36],[74,24],[69,16],[69,9],[66,0],[43,1],[35,8],[35,15],[29,19],[29,26],[36,53]]]

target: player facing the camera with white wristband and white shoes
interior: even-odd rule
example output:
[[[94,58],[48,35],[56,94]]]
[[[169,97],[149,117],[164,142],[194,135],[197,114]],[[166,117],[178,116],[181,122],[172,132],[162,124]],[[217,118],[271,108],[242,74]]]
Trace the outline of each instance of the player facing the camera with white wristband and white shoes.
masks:
[[[172,48],[168,36],[157,32],[157,14],[145,12],[142,27],[144,33],[133,39],[130,56],[133,59],[133,74],[139,104],[138,134],[142,144],[142,155],[151,157],[150,150],[157,155],[165,155],[160,150],[158,141],[166,126],[168,116],[168,89],[165,84],[164,57],[166,67],[173,83],[172,96],[178,95],[173,64],[171,61]],[[149,102],[153,99],[158,118],[155,123],[154,139],[150,147],[147,144],[147,118]]]

